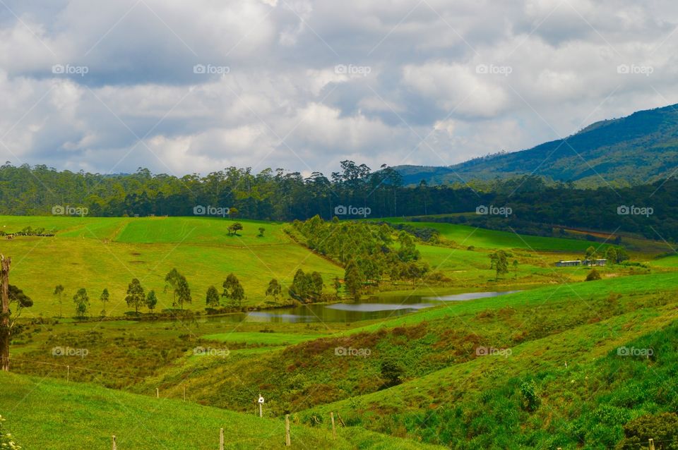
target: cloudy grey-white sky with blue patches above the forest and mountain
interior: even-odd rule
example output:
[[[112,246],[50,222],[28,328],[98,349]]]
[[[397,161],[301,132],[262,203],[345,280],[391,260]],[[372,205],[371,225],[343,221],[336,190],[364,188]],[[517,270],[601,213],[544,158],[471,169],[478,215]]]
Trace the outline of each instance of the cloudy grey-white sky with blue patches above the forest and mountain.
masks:
[[[675,0],[0,0],[0,152],[448,165],[678,103]]]

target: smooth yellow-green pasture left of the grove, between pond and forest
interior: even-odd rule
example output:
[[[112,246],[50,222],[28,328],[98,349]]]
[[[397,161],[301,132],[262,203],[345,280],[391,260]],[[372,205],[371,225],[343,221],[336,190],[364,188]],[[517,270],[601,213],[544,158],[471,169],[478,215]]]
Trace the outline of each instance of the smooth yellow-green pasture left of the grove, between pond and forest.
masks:
[[[194,217],[90,218],[90,217],[0,217],[7,233],[25,226],[54,230],[54,237],[19,236],[1,241],[5,255],[13,257],[12,282],[35,301],[27,315],[58,315],[52,295],[54,286],[66,286],[63,312],[73,315],[71,297],[87,288],[92,313],[103,305],[100,293],[111,294],[109,315],[129,310],[124,303],[127,285],[138,278],[146,289],[154,289],[158,310],[171,308],[172,296],[163,293],[165,274],[173,267],[182,272],[194,298],[186,308],[205,308],[210,285],[221,290],[233,272],[242,282],[246,305],[263,305],[268,281],[289,284],[297,268],[318,271],[330,284],[343,269],[298,245],[283,232],[283,224],[239,220],[244,230],[228,236],[229,220]],[[263,237],[258,228],[265,229]]]

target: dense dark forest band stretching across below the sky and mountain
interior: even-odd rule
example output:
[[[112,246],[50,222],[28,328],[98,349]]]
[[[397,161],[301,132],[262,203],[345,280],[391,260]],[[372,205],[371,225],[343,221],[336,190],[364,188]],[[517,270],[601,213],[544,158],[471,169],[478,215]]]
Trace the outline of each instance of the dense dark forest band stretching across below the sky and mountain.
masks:
[[[228,208],[232,217],[292,221],[316,215],[329,220],[470,213],[443,219],[533,234],[549,234],[557,226],[604,231],[619,227],[619,231],[676,242],[677,194],[674,180],[632,188],[577,189],[572,183],[522,176],[403,186],[396,169],[384,165],[372,171],[352,161],[341,162],[340,171],[329,177],[319,172],[304,177],[283,169],[254,174],[235,167],[179,178],[154,175],[148,169],[104,175],[47,166],[0,166],[0,213],[14,215],[84,211],[90,216],[189,216]],[[196,212],[198,206],[203,209]],[[475,214],[481,206],[510,208],[511,214]],[[618,214],[623,206],[636,209]],[[633,214],[639,208],[651,208],[651,214]]]

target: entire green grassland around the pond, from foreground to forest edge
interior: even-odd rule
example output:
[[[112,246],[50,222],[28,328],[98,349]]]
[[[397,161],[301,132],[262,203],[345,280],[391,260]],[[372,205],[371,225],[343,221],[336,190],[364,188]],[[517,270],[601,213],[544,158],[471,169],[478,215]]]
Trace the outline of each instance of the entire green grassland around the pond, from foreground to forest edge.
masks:
[[[266,305],[273,274],[283,284],[296,267],[318,270],[326,284],[343,276],[292,241],[284,224],[242,221],[242,236],[228,236],[230,222],[220,219],[4,219],[13,231],[27,221],[57,231],[0,241],[13,257],[13,284],[35,300],[32,317],[58,312],[52,289],[59,282],[71,295],[87,287],[93,305],[109,288],[107,309],[120,315],[129,310],[122,298],[132,276],[155,288],[159,309],[167,308],[163,278],[172,267],[189,279],[194,310],[204,307],[206,287],[220,287],[231,271],[251,306]],[[88,430],[78,438],[83,448],[105,448],[116,434],[121,450],[211,449],[220,427],[227,448],[273,449],[283,446],[281,419],[291,413],[293,445],[304,448],[593,449],[617,445],[631,420],[676,411],[676,257],[639,255],[649,268],[613,265],[585,282],[590,269],[553,263],[581,255],[588,241],[415,225],[441,231],[440,245],[417,248],[449,280],[390,284],[379,295],[521,292],[352,323],[24,319],[12,346],[16,374],[0,374],[6,429],[28,449],[71,448],[78,430]],[[489,254],[498,248],[518,264],[496,280]],[[67,308],[70,299],[64,313],[72,315]],[[653,348],[656,358],[619,358],[619,346]],[[57,347],[88,353],[54,355]],[[484,356],[478,348],[511,353]],[[260,393],[267,399],[261,420],[253,411]],[[528,408],[526,399],[535,403]],[[330,412],[347,425],[336,441]]]

